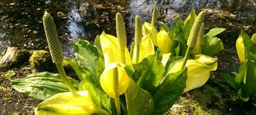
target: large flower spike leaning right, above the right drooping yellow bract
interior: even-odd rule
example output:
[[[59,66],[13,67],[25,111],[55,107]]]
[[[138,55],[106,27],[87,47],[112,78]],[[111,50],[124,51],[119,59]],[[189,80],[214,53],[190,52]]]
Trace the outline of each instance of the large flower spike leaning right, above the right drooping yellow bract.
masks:
[[[204,21],[204,11],[202,11],[198,14],[198,17],[196,18],[196,20],[192,26],[192,29],[188,36],[188,43],[187,43],[188,47],[193,48],[195,46],[196,38],[198,37],[198,33],[199,33],[199,30],[200,30],[200,27],[201,27],[201,24],[203,23],[203,21]]]

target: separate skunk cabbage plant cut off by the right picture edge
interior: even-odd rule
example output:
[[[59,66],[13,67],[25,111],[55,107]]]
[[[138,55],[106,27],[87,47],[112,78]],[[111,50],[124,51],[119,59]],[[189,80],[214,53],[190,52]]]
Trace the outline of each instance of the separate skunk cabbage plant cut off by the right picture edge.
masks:
[[[241,62],[238,73],[232,72],[236,77],[222,73],[222,77],[232,86],[238,90],[231,94],[233,100],[240,99],[248,101],[251,96],[256,94],[256,45],[255,36],[250,39],[245,31],[241,31],[236,40],[236,51]]]

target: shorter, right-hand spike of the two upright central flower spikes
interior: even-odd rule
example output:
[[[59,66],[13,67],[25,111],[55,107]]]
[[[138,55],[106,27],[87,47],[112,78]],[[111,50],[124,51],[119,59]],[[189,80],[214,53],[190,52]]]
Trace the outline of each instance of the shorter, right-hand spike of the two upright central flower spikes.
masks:
[[[135,18],[135,44],[140,45],[142,40],[142,22],[140,16]]]

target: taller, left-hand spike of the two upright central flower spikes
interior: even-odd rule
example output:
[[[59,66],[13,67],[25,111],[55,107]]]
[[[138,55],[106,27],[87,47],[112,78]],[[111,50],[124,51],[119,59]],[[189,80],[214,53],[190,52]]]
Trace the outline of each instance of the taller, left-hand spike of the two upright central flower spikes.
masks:
[[[118,38],[118,47],[120,50],[126,48],[126,32],[124,26],[124,20],[120,13],[116,14],[116,35]]]

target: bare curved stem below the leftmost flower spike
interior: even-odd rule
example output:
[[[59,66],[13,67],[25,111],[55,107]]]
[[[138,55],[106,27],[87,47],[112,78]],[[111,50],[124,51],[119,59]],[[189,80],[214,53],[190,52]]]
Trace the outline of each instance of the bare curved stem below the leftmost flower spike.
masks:
[[[59,71],[60,77],[62,78],[64,84],[68,87],[68,90],[70,90],[70,92],[76,92],[76,89],[74,88],[74,86],[72,86],[72,84],[68,80],[68,76],[66,75],[66,73],[64,71],[62,63],[58,63],[58,64],[56,64],[56,66]]]

